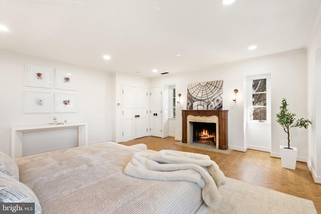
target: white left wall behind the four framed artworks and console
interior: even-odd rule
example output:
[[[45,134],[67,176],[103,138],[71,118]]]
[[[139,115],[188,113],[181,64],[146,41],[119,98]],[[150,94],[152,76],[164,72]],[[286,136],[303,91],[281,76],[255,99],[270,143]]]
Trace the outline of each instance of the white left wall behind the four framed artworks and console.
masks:
[[[55,82],[53,82],[53,88],[25,86],[25,63],[53,68],[53,80],[55,80],[56,68],[77,72],[77,91],[55,89]],[[88,122],[89,143],[111,140],[111,121],[107,120],[110,116],[106,115],[109,107],[105,104],[107,93],[110,91],[110,86],[106,84],[111,78],[110,74],[7,53],[0,53],[0,73],[1,151],[7,154],[10,152],[11,126],[47,124],[52,122],[54,116],[58,118],[58,121]],[[55,113],[53,103],[52,113],[25,113],[25,90],[77,94],[77,112]],[[96,132],[96,136],[93,136],[93,132]]]

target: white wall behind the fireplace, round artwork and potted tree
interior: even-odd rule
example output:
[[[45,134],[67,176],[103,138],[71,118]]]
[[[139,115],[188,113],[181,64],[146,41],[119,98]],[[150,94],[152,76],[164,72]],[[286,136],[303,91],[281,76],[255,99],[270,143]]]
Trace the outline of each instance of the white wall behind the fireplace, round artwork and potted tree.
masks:
[[[180,110],[186,109],[187,85],[189,83],[223,80],[223,109],[228,112],[229,148],[245,150],[246,125],[244,124],[244,77],[246,75],[271,73],[271,152],[279,155],[279,140],[286,140],[286,134],[276,123],[275,114],[283,97],[287,98],[289,109],[298,117],[307,117],[306,110],[306,52],[304,50],[259,57],[240,62],[225,64],[211,69],[204,69],[181,74],[165,75],[152,78],[150,87],[161,87],[174,82],[176,93],[182,94],[181,105],[177,109],[176,139],[182,139],[182,116]],[[238,89],[237,101],[232,101],[233,90]],[[307,132],[296,129],[291,133],[293,146],[298,147],[298,156],[307,157]]]

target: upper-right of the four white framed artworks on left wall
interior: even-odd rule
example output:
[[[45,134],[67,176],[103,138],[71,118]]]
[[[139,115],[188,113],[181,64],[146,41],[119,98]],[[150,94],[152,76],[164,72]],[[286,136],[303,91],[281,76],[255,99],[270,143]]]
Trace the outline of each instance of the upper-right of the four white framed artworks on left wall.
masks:
[[[56,69],[56,88],[77,90],[77,72]]]

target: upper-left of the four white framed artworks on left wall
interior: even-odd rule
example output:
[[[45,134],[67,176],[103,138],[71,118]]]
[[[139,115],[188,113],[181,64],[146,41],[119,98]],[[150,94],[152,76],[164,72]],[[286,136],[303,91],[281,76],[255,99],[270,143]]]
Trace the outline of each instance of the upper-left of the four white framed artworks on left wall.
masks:
[[[25,64],[25,85],[52,88],[52,68]]]

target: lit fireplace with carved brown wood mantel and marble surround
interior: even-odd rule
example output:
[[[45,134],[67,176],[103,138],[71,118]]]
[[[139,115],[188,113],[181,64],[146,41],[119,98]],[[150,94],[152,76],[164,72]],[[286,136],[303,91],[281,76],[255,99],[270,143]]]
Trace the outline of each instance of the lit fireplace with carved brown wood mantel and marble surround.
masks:
[[[227,113],[228,110],[182,110],[182,142],[205,143],[218,149],[228,149]]]

